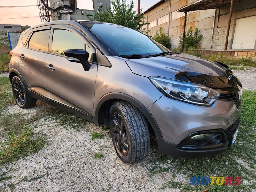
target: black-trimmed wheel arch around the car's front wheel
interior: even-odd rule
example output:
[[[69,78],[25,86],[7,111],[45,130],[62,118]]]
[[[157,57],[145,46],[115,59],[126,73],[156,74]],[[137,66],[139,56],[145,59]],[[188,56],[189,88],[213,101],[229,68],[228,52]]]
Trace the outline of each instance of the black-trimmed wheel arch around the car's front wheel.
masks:
[[[96,110],[95,110],[95,115],[93,116],[93,121],[95,124],[98,125],[105,125],[105,126],[109,126],[109,110],[111,105],[118,100],[124,100],[127,101],[129,103],[131,103],[132,105],[134,105],[136,108],[138,108],[140,110],[140,112],[146,117],[147,121],[148,121],[148,125],[150,127],[152,127],[154,134],[157,137],[163,138],[162,133],[160,131],[160,128],[158,126],[158,124],[156,123],[155,118],[152,116],[152,114],[148,111],[148,109],[142,105],[142,103],[140,103],[140,101],[136,100],[135,98],[124,94],[124,93],[109,93],[105,96],[103,96],[97,106],[96,106]]]

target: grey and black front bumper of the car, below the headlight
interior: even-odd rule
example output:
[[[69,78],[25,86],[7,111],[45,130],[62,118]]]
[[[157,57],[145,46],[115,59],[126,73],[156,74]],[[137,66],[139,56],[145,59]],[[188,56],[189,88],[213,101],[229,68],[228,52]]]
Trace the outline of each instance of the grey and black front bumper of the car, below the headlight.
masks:
[[[148,110],[156,119],[163,138],[157,137],[160,153],[175,157],[204,157],[219,154],[229,146],[231,137],[225,137],[224,145],[207,149],[183,149],[181,143],[195,132],[219,130],[226,135],[228,128],[239,126],[241,105],[233,101],[217,100],[212,106],[198,106],[162,96]],[[234,128],[234,126],[233,126]]]

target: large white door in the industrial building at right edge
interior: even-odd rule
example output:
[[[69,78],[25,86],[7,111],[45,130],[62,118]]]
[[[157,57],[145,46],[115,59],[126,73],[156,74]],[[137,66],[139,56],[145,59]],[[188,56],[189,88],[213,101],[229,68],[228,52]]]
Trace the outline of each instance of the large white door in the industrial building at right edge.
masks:
[[[254,49],[256,40],[256,16],[236,20],[232,49]]]

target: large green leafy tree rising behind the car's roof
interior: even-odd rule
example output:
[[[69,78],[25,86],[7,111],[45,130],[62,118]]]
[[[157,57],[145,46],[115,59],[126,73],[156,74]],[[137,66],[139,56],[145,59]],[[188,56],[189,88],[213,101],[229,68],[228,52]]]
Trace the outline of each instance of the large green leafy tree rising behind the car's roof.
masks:
[[[137,11],[133,11],[134,0],[130,4],[126,4],[126,0],[113,0],[111,5],[112,9],[107,7],[107,10],[103,12],[99,8],[93,15],[86,13],[86,16],[89,20],[123,25],[142,33],[146,31],[147,27],[144,26],[147,26],[148,23],[144,21],[143,14],[138,15]]]

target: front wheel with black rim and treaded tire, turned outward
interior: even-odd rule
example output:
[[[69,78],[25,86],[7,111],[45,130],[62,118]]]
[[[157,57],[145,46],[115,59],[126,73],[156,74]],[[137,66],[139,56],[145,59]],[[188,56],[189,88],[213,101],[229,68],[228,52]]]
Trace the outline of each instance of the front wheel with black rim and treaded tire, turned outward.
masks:
[[[144,160],[150,151],[146,117],[126,101],[116,101],[110,108],[110,133],[118,157],[125,164]]]

